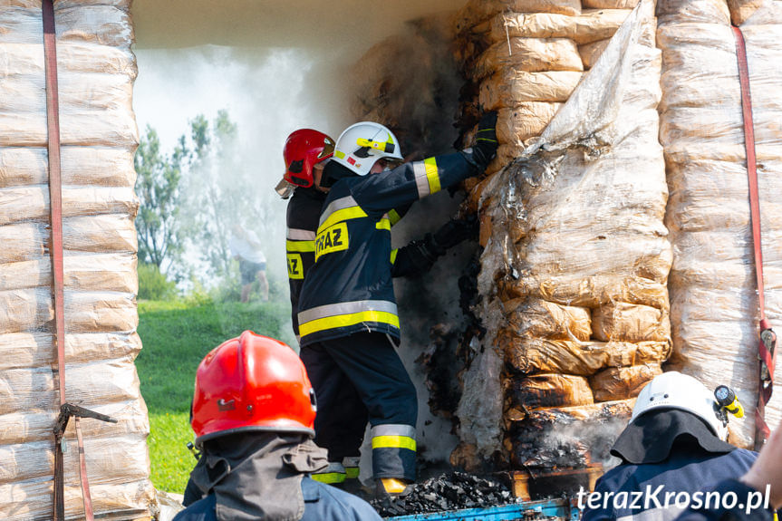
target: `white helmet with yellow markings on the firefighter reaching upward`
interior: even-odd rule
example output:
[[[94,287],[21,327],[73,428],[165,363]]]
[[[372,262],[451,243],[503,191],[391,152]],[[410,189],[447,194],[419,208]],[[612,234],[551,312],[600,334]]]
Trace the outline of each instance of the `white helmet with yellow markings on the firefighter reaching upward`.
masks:
[[[380,123],[362,121],[343,131],[337,140],[332,160],[365,176],[378,159],[404,160],[399,140]]]

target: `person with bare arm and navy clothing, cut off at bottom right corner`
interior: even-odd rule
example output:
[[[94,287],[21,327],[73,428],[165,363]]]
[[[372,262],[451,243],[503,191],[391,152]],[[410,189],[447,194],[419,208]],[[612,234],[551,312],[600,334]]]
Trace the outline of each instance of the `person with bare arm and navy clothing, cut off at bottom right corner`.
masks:
[[[690,506],[676,521],[777,521],[777,514],[772,513],[770,508],[782,508],[782,423],[760,449],[758,459],[747,474],[739,479],[723,479],[716,486],[704,490],[711,491],[717,492],[719,497],[726,497],[732,492],[739,501],[733,507],[726,507],[721,502],[719,506]],[[748,497],[754,498],[753,506],[756,508],[748,510]]]

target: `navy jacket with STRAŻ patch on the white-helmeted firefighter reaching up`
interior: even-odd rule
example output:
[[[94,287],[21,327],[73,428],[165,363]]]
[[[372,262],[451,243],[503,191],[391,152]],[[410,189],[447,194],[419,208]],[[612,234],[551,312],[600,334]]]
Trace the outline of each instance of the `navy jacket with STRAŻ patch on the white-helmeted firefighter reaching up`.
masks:
[[[387,333],[399,343],[389,212],[477,173],[461,152],[363,177],[329,163],[323,176],[338,180],[323,204],[315,264],[299,300],[301,344],[360,331]]]

